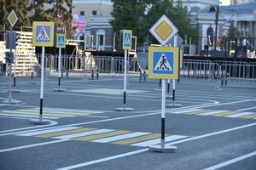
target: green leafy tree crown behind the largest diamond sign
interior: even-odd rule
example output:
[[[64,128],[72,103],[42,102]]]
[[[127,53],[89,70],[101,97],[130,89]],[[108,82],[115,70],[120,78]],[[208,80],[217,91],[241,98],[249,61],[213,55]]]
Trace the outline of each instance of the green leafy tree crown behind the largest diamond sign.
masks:
[[[191,28],[189,13],[187,8],[183,8],[181,1],[174,4],[172,0],[113,0],[114,20],[111,25],[115,32],[131,29],[133,35],[137,36],[138,43],[155,43],[149,29],[163,14],[177,26],[181,37],[197,35],[197,29]]]

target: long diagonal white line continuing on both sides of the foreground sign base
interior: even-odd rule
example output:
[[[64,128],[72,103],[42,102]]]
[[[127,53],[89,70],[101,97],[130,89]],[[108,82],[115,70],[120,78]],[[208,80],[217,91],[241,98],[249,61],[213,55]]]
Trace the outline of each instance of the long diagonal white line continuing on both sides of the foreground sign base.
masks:
[[[228,132],[235,131],[235,130],[238,130],[238,129],[241,129],[241,128],[253,127],[253,126],[256,126],[256,123],[247,124],[247,125],[244,125],[244,126],[241,126],[241,127],[233,127],[233,128],[225,129],[223,131],[218,131],[218,132],[215,132],[215,133],[207,133],[207,134],[203,134],[201,136],[193,137],[193,138],[190,138],[190,139],[178,140],[176,142],[169,143],[168,145],[180,144],[180,143],[188,142],[188,141],[195,140],[195,139],[207,138],[209,136],[218,135],[220,133],[228,133]],[[93,164],[96,164],[96,163],[101,163],[103,161],[111,161],[111,160],[118,159],[118,158],[125,157],[125,156],[136,155],[136,154],[139,154],[139,153],[146,152],[148,150],[149,150],[148,148],[143,149],[143,150],[135,150],[135,151],[127,152],[127,153],[124,153],[124,154],[119,154],[119,155],[116,155],[116,156],[109,156],[109,157],[105,157],[105,158],[94,160],[94,161],[86,161],[86,162],[83,162],[83,163],[75,164],[75,165],[68,166],[68,167],[62,167],[62,168],[58,168],[58,169],[55,169],[55,170],[70,170],[70,169],[75,169],[75,168],[79,168],[79,167],[86,167],[86,166],[90,166],[90,165],[93,165]]]

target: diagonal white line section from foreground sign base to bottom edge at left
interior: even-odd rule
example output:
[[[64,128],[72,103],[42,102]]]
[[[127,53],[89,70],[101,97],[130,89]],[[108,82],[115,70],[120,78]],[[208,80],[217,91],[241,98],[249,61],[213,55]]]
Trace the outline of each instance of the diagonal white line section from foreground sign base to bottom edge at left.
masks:
[[[110,161],[110,160],[118,159],[120,157],[132,156],[132,155],[135,155],[135,154],[143,153],[145,151],[148,151],[148,148],[143,149],[143,150],[135,150],[135,151],[127,152],[125,154],[119,154],[119,155],[116,155],[116,156],[109,156],[109,157],[105,157],[105,158],[94,160],[94,161],[87,161],[87,162],[84,162],[84,163],[79,163],[79,164],[72,165],[72,166],[69,166],[69,167],[62,167],[62,168],[55,169],[55,170],[70,170],[70,169],[75,169],[75,168],[79,168],[79,167],[86,167],[86,166],[93,165],[93,164],[96,164],[96,163],[100,163],[100,162],[103,162],[103,161]]]

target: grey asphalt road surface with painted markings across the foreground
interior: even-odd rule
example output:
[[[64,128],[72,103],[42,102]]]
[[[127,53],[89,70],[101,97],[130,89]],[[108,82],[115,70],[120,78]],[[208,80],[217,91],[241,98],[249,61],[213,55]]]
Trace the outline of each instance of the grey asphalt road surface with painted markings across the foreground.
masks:
[[[125,108],[133,111],[116,111],[124,107],[122,77],[63,78],[64,92],[53,90],[57,77],[46,77],[43,125],[32,123],[40,79],[30,81],[17,78],[20,93],[9,104],[8,78],[0,77],[1,170],[256,169],[256,88],[177,83],[182,106],[166,106],[165,137],[177,153],[159,153],[148,150],[160,144],[159,81],[128,77]]]

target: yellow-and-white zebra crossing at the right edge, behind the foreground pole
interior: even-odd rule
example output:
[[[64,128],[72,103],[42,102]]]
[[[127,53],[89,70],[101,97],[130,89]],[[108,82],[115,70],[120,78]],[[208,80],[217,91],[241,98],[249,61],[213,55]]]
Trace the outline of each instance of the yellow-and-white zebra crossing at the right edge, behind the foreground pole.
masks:
[[[245,119],[256,119],[255,112],[241,112],[237,111],[214,111],[207,109],[191,109],[183,111],[174,111],[173,114],[185,114],[185,115],[199,115],[199,116],[223,116],[232,118],[245,118]]]

